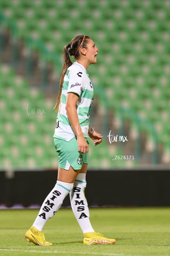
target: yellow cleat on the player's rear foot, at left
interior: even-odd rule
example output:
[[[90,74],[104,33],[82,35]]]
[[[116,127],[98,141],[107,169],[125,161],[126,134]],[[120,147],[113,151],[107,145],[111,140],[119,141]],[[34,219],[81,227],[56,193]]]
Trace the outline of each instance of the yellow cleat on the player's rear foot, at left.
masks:
[[[46,242],[43,232],[37,230],[37,228],[34,228],[33,226],[25,233],[25,240],[41,246],[53,245]]]

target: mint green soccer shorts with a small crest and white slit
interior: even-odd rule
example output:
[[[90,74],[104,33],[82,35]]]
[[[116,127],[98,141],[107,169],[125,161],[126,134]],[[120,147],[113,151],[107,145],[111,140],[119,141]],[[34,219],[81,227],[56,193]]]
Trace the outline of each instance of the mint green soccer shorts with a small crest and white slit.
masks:
[[[58,153],[58,166],[60,168],[69,170],[71,166],[74,170],[80,170],[83,164],[89,163],[89,153],[78,152],[78,144],[75,137],[70,141],[54,137],[54,144]]]

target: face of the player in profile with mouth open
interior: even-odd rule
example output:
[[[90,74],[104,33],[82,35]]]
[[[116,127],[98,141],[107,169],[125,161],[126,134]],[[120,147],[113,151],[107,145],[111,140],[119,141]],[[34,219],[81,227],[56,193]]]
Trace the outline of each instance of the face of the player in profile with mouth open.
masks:
[[[90,38],[86,49],[86,58],[89,62],[89,64],[95,64],[97,62],[96,55],[99,49],[95,46],[95,43],[93,40]]]

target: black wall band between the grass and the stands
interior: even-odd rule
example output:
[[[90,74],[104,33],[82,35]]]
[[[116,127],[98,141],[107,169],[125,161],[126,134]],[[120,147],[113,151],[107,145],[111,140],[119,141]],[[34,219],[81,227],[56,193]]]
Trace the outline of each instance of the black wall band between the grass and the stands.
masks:
[[[170,206],[169,170],[88,171],[85,195],[89,206]],[[0,172],[0,206],[41,205],[57,171]],[[62,206],[70,206],[69,196]],[[1,207],[2,209],[2,207]]]

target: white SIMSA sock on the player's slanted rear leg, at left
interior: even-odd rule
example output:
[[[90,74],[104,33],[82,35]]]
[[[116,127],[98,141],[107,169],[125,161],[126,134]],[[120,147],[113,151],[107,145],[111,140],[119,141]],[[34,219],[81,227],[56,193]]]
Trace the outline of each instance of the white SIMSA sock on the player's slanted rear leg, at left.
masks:
[[[33,226],[39,231],[42,231],[44,225],[49,218],[52,218],[54,214],[58,211],[64,198],[72,190],[74,183],[65,183],[58,181],[44,200],[41,209],[39,210],[38,216],[35,219]]]

